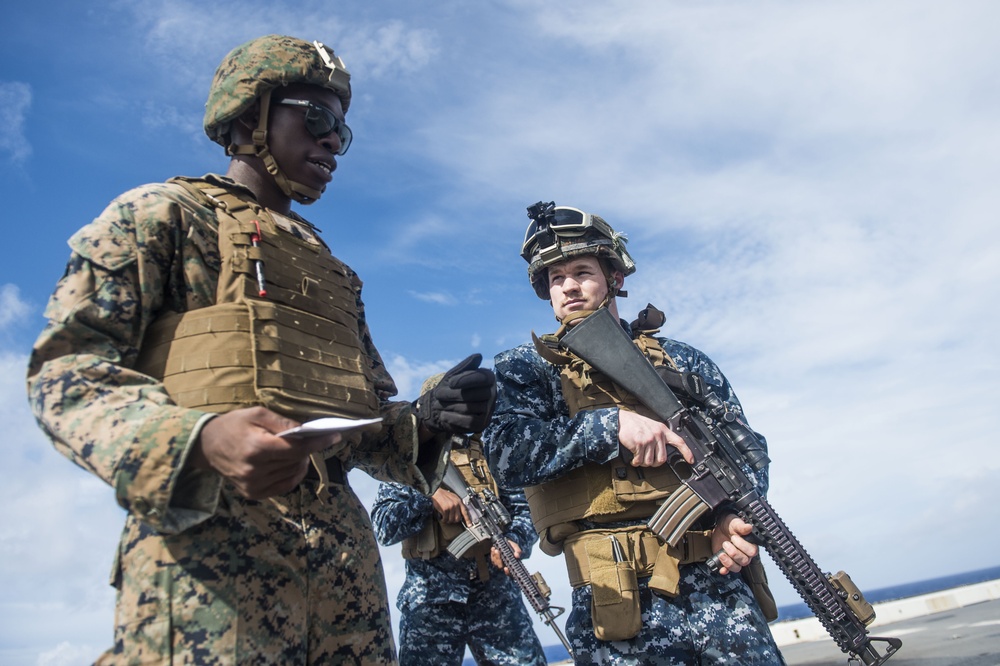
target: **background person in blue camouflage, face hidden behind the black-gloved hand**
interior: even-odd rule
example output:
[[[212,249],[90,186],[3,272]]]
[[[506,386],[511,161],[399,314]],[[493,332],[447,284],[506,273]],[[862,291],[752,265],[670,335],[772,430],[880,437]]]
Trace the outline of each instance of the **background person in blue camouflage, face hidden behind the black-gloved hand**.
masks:
[[[424,391],[438,378],[428,379]],[[471,489],[489,488],[500,498],[511,518],[506,537],[519,558],[528,557],[538,535],[524,493],[497,488],[477,435],[455,439],[452,463]],[[458,666],[466,645],[480,664],[546,663],[521,590],[504,574],[496,549],[480,543],[462,558],[447,551],[469,522],[458,495],[442,487],[428,497],[383,483],[371,515],[379,543],[403,542],[406,581],[396,604],[400,666]]]

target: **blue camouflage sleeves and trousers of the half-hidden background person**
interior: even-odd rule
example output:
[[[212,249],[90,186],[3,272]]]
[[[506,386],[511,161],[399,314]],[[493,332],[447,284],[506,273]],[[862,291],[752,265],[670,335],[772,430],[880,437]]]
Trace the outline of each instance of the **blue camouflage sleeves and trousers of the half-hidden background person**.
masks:
[[[461,502],[445,488],[432,499],[397,483],[383,483],[372,507],[378,542],[389,546],[420,534],[435,519],[439,494],[450,495],[442,501]],[[524,493],[501,490],[499,498],[511,517],[507,539],[527,558],[538,535]],[[517,584],[492,565],[486,565],[490,569],[483,580],[480,566],[475,559],[447,552],[406,559],[406,581],[396,602],[401,612],[401,666],[458,665],[466,645],[480,664],[546,663]]]

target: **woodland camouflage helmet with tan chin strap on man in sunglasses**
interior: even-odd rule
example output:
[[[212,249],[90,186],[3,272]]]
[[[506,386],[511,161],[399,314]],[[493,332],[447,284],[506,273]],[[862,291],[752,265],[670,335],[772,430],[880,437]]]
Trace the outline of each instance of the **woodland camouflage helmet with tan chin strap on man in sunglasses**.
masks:
[[[265,35],[237,46],[223,59],[212,79],[205,103],[205,134],[230,155],[256,155],[281,190],[300,203],[311,203],[322,192],[288,180],[267,145],[271,93],[280,86],[305,83],[334,91],[344,113],[351,103],[351,74],[333,49],[285,35]],[[252,145],[230,143],[233,121],[260,99],[260,120]]]

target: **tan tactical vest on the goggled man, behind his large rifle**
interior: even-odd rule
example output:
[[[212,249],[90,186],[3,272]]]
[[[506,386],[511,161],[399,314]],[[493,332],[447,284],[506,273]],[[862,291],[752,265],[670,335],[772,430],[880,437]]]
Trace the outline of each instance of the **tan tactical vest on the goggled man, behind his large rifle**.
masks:
[[[554,335],[536,337],[535,347],[543,358],[561,367],[563,397],[570,416],[588,409],[618,407],[655,418],[638,399],[620,392],[603,373],[572,353],[559,349],[557,343],[565,331],[563,326]],[[673,361],[653,337],[657,331],[636,331],[635,343],[653,365],[672,366]],[[658,503],[679,485],[680,480],[667,465],[633,467],[615,458],[603,465],[584,463],[558,479],[525,488],[525,494],[539,534],[539,546],[555,555],[562,550],[563,539],[578,531],[574,521],[611,523],[648,518],[656,511]]]

